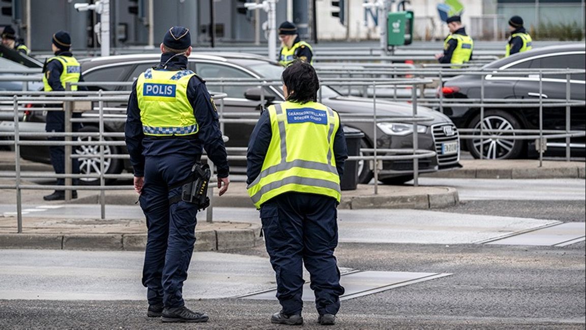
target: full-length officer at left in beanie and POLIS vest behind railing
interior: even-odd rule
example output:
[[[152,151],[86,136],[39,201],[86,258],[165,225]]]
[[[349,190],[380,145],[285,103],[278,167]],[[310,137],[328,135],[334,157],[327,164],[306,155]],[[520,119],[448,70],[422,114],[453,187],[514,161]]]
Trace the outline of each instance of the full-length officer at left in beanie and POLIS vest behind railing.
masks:
[[[83,82],[81,76],[81,67],[77,59],[71,53],[71,37],[65,31],[57,31],[52,39],[52,49],[55,56],[49,58],[43,66],[43,84],[45,92],[64,91],[66,83]],[[86,87],[77,87],[71,85],[71,90],[87,90]],[[75,118],[79,118],[80,113],[73,113]],[[80,129],[80,123],[71,124],[73,132]],[[45,130],[51,132],[65,132],[65,116],[63,111],[47,111]],[[63,141],[64,137],[47,137],[49,141]],[[49,146],[51,164],[57,174],[65,173],[65,151],[63,146]],[[71,170],[73,174],[79,174],[79,161],[77,158],[71,159]],[[63,186],[64,179],[57,179],[57,185]],[[77,179],[73,179],[73,184],[77,184]],[[71,198],[77,198],[77,191],[71,192]],[[65,191],[56,190],[52,194],[43,197],[44,200],[64,200]]]

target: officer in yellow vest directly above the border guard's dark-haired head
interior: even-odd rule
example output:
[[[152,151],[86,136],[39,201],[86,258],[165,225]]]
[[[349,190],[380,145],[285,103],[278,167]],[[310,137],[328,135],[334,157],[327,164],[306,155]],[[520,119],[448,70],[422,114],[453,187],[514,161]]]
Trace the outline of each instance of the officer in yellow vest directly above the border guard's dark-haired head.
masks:
[[[279,26],[279,39],[281,39],[281,51],[279,52],[279,63],[287,66],[296,59],[314,64],[314,50],[309,43],[301,41],[297,34],[297,26],[291,22],[283,22]]]

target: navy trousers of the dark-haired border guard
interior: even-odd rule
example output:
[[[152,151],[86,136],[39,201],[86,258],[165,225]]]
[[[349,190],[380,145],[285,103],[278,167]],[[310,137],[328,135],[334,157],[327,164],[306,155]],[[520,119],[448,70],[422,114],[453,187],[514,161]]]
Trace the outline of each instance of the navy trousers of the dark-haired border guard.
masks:
[[[284,314],[301,314],[302,265],[309,271],[319,315],[340,309],[340,271],[333,255],[338,245],[336,200],[318,194],[285,193],[261,206],[264,239],[277,277]]]

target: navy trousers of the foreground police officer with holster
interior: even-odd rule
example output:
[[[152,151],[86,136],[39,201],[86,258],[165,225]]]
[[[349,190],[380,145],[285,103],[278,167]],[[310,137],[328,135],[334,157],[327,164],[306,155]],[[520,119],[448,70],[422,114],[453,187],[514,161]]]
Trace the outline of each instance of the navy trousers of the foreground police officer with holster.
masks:
[[[193,156],[147,156],[145,182],[139,198],[147,218],[148,238],[142,285],[148,288],[150,305],[182,307],[183,281],[195,244],[196,204],[179,201],[169,205],[181,188],[168,186],[185,180],[195,162]]]

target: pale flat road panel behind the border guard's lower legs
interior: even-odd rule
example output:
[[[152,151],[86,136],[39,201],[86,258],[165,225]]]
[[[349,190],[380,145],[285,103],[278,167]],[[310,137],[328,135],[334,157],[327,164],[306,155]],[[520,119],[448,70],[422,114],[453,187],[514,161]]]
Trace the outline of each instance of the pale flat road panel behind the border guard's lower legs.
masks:
[[[418,282],[434,280],[452,274],[438,272],[393,272],[393,271],[355,271],[342,274],[340,284],[346,293],[340,300],[362,297],[393,288],[404,287]],[[240,296],[244,299],[276,300],[277,289],[254,292]],[[314,292],[309,288],[309,282],[303,286],[303,300],[314,301]]]

